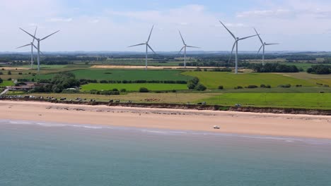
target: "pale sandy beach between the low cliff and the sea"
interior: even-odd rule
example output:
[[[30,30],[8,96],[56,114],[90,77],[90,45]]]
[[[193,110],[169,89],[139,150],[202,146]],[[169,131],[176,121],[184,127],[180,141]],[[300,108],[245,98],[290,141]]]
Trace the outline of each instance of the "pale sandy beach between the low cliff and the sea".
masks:
[[[0,119],[331,139],[331,116],[0,101]]]

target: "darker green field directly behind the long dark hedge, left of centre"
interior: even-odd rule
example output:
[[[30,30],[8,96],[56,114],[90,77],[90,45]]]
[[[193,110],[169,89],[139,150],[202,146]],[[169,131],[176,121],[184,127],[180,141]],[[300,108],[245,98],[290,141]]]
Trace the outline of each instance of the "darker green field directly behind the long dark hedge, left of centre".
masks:
[[[180,70],[73,70],[77,79],[88,80],[190,80],[193,77],[181,75]],[[37,79],[52,79],[55,73],[37,75]],[[32,77],[30,77],[32,78]]]

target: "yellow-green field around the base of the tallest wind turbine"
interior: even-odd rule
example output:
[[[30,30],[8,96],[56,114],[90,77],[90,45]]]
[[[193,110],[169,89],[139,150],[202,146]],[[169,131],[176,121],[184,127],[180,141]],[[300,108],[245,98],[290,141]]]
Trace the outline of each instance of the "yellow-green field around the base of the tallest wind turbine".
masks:
[[[198,77],[200,82],[207,86],[209,89],[217,89],[219,85],[223,85],[224,88],[232,88],[237,86],[248,85],[271,85],[277,87],[278,85],[291,84],[302,85],[303,87],[316,87],[315,83],[308,82],[307,80],[301,80],[294,77],[289,77],[281,74],[273,73],[220,73],[220,72],[185,72],[184,75],[191,75]]]

